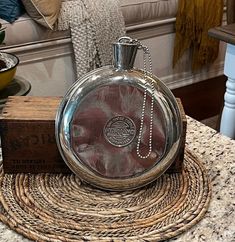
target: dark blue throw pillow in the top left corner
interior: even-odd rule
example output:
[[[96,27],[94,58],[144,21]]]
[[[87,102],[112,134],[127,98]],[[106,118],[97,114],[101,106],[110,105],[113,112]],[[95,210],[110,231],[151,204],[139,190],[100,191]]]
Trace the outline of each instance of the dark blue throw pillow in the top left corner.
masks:
[[[0,18],[13,23],[25,12],[21,0],[1,0]]]

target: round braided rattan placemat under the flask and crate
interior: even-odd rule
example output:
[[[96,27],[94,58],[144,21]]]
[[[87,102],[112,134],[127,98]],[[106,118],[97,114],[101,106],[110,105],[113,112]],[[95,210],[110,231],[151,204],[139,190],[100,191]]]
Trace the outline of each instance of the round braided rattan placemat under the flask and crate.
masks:
[[[188,150],[182,174],[127,192],[80,184],[74,175],[1,175],[2,222],[37,241],[159,241],[196,224],[211,195]]]

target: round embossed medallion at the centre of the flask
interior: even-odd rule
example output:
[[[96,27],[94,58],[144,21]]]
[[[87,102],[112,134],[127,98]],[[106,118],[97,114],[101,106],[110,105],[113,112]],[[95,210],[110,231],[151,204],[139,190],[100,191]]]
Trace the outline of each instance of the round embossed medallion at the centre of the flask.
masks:
[[[136,126],[132,119],[115,116],[108,120],[104,127],[105,139],[116,147],[129,145],[136,136]]]

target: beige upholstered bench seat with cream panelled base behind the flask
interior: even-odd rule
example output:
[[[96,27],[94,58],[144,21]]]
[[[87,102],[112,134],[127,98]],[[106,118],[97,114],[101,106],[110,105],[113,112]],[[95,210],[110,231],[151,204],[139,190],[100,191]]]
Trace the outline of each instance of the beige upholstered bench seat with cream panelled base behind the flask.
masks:
[[[224,45],[219,57],[207,69],[191,72],[190,53],[172,68],[174,24],[178,0],[121,0],[127,35],[140,39],[152,53],[153,72],[170,88],[182,87],[223,74]],[[76,81],[73,48],[69,31],[47,29],[27,14],[13,24],[0,20],[7,27],[6,45],[1,50],[20,58],[17,76],[27,79],[30,95],[64,95]],[[136,66],[142,66],[138,56]]]

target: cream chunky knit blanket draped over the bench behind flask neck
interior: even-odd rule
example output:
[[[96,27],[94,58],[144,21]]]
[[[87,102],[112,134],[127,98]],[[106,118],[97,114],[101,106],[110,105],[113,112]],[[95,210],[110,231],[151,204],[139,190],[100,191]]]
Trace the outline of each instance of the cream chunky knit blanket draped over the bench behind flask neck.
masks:
[[[58,30],[71,30],[77,78],[111,64],[112,43],[125,35],[117,0],[64,0]]]

